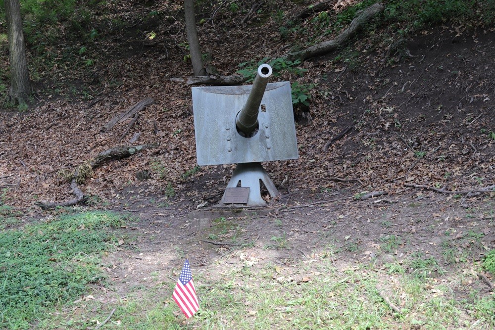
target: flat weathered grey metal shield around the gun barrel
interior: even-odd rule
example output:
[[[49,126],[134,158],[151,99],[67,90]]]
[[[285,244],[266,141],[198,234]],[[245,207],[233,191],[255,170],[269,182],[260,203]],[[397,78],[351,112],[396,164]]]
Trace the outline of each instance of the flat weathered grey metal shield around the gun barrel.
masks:
[[[251,86],[193,87],[196,155],[199,165],[297,159],[296,127],[289,82],[269,83],[251,138],[236,130],[236,115]]]

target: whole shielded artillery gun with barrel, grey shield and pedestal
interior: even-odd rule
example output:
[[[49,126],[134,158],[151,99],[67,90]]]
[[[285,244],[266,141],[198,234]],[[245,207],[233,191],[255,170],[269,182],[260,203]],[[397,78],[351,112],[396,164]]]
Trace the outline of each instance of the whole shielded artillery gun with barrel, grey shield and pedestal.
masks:
[[[198,165],[237,164],[218,206],[266,205],[279,194],[261,162],[297,159],[289,82],[268,83],[262,64],[251,86],[193,87]]]

